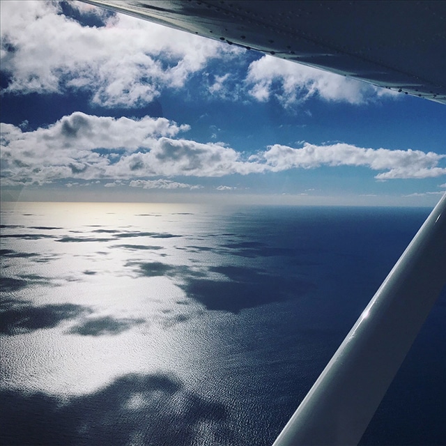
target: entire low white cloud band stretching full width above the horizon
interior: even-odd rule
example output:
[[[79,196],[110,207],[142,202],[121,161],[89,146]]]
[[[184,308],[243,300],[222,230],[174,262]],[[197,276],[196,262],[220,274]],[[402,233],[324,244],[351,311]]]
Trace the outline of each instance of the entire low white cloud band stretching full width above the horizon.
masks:
[[[187,130],[189,126],[165,118],[116,119],[80,112],[31,132],[2,124],[2,185],[67,181],[66,185],[72,186],[76,184],[72,180],[89,184],[105,180],[106,187],[194,190],[201,185],[169,178],[261,174],[322,166],[367,167],[378,172],[377,180],[446,174],[441,165],[446,155],[434,152],[304,143],[301,148],[274,144],[249,155],[222,142],[176,138]]]

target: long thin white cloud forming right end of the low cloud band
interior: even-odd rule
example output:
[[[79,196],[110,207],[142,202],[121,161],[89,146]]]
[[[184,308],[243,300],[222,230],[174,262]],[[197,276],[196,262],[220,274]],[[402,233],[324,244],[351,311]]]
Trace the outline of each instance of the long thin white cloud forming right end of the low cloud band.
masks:
[[[362,148],[350,144],[314,146],[305,143],[302,148],[275,144],[261,154],[272,171],[321,166],[364,166],[372,170],[386,170],[375,176],[378,180],[392,178],[429,178],[446,174],[446,168],[437,167],[446,157],[433,152],[391,151],[387,148]]]

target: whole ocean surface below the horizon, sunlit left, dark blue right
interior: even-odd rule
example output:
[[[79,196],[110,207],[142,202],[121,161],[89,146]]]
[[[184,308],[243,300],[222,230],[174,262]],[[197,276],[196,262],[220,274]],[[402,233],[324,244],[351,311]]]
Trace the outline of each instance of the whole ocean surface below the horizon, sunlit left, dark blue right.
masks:
[[[426,208],[2,203],[2,445],[270,445]],[[446,291],[362,445],[446,444]]]

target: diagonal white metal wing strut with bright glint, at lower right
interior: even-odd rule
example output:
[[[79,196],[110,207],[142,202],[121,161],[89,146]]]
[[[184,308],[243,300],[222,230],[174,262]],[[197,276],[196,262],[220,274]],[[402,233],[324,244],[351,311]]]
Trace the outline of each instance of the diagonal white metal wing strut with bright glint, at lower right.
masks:
[[[273,446],[356,445],[446,283],[446,194]]]

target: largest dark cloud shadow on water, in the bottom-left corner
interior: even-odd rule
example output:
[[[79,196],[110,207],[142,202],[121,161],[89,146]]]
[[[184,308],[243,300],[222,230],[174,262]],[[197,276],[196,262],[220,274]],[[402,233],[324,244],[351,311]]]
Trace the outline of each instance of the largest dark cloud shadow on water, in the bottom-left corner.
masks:
[[[231,444],[224,405],[167,374],[122,376],[63,404],[43,392],[7,390],[0,404],[1,444],[197,445],[201,423]]]

